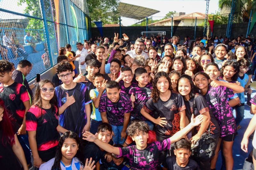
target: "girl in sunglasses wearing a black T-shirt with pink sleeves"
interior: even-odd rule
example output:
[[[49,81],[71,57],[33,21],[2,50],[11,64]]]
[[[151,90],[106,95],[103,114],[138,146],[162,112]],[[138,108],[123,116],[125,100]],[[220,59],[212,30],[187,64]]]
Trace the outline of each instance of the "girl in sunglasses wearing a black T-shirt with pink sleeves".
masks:
[[[36,168],[54,158],[60,138],[59,132],[67,131],[59,125],[54,91],[51,81],[40,81],[32,106],[26,114],[26,130]]]

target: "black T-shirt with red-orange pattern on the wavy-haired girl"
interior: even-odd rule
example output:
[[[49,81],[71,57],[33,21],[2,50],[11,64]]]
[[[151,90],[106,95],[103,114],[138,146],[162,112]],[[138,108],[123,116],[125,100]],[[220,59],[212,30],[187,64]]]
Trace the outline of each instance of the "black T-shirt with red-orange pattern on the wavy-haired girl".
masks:
[[[147,103],[143,106],[143,109],[150,113],[157,111],[160,117],[165,117],[168,123],[163,125],[156,125],[156,135],[169,138],[174,135],[177,131],[180,131],[180,115],[179,112],[186,109],[184,100],[180,94],[172,91],[170,98],[167,101],[162,101],[159,97],[157,103],[153,102],[150,98]]]

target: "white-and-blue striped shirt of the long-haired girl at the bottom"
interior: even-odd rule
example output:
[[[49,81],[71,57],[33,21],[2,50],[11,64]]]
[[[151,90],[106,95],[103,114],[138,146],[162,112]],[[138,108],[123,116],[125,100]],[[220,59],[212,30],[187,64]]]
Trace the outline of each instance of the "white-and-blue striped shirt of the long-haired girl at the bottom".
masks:
[[[52,158],[49,161],[45,162],[44,164],[42,164],[39,168],[39,170],[51,170],[52,169],[52,165],[54,163],[54,159]],[[60,169],[61,170],[79,170],[80,169],[80,163],[78,158],[74,157],[71,161],[71,164],[68,166],[65,166],[61,161],[60,161]],[[83,166],[82,166],[83,168]]]

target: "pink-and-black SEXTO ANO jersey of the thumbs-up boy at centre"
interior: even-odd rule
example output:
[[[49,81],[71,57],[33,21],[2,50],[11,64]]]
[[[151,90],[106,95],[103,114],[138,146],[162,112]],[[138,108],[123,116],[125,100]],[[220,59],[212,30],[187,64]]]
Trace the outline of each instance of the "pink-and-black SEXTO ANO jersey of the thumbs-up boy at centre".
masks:
[[[150,99],[152,88],[152,84],[148,83],[145,87],[139,87],[138,85],[136,85],[135,87],[132,87],[130,89],[129,96],[131,96],[132,93],[135,96],[135,102],[133,103],[134,108],[131,112],[132,117],[143,121],[148,120],[141,115],[140,110],[142,109],[144,104]]]

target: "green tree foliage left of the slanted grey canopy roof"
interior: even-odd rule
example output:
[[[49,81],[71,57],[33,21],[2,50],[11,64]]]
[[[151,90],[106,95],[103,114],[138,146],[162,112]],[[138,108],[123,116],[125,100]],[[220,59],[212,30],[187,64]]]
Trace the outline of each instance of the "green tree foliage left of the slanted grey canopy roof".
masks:
[[[120,0],[87,0],[92,26],[94,26],[93,21],[102,21],[102,25],[118,24],[117,6],[119,2]]]

